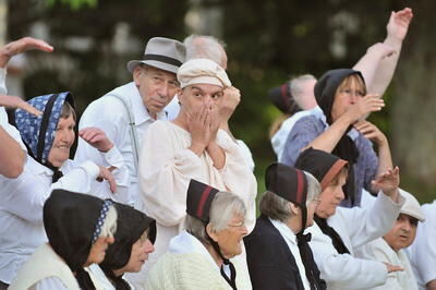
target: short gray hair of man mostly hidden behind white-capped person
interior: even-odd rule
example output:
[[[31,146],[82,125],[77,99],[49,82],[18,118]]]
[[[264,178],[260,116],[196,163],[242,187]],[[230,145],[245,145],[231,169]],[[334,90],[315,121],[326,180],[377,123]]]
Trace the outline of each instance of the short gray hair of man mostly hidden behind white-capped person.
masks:
[[[223,65],[225,43],[208,35],[190,35],[183,44],[186,46],[186,61],[192,59],[209,59]]]

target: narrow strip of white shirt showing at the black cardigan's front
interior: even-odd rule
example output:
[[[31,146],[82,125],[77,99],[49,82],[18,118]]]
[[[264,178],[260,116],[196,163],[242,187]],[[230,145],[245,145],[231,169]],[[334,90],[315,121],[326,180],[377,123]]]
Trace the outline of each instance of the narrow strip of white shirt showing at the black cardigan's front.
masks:
[[[289,246],[289,250],[292,253],[293,258],[295,259],[295,264],[299,267],[299,273],[300,273],[300,278],[301,281],[303,282],[304,289],[311,289],[311,285],[307,280],[306,276],[306,270],[303,264],[303,261],[301,261],[301,255],[300,255],[300,249],[296,243],[296,235],[293,233],[293,231],[283,222],[276,220],[276,219],[269,219],[272,223],[272,226],[280,232],[281,237],[283,237],[283,240]]]

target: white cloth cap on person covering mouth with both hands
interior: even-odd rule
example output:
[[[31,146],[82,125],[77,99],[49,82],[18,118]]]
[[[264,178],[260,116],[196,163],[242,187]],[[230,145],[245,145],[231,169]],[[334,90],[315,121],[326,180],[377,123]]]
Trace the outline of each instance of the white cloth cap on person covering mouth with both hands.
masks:
[[[184,88],[193,84],[209,84],[220,87],[231,86],[226,71],[208,59],[193,59],[183,63],[177,73],[180,87]]]

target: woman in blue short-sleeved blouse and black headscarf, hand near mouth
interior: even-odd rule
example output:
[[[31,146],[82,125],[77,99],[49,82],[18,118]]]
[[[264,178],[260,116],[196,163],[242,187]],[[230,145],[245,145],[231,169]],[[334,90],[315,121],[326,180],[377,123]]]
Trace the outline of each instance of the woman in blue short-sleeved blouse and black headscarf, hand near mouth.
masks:
[[[372,123],[362,121],[385,105],[377,96],[366,95],[362,74],[341,69],[326,72],[315,85],[315,97],[324,116],[300,119],[288,136],[282,162],[293,166],[307,147],[332,153],[349,164],[343,206],[360,205],[362,189],[374,194],[376,176],[392,168],[386,136]],[[371,141],[378,147],[378,158]]]

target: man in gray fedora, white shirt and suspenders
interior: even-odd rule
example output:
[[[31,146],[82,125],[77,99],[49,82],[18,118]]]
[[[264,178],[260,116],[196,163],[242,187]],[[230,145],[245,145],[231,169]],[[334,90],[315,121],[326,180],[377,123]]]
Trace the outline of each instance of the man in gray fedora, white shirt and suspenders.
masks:
[[[184,58],[183,44],[164,37],[149,39],[143,60],[128,63],[133,82],[93,101],[78,123],[80,129],[99,128],[119,148],[130,174],[128,203],[140,210],[143,210],[143,205],[138,198],[138,150],[148,126],[156,120],[167,120],[164,108],[180,88],[175,73]],[[106,165],[102,154],[82,141],[75,160]]]

